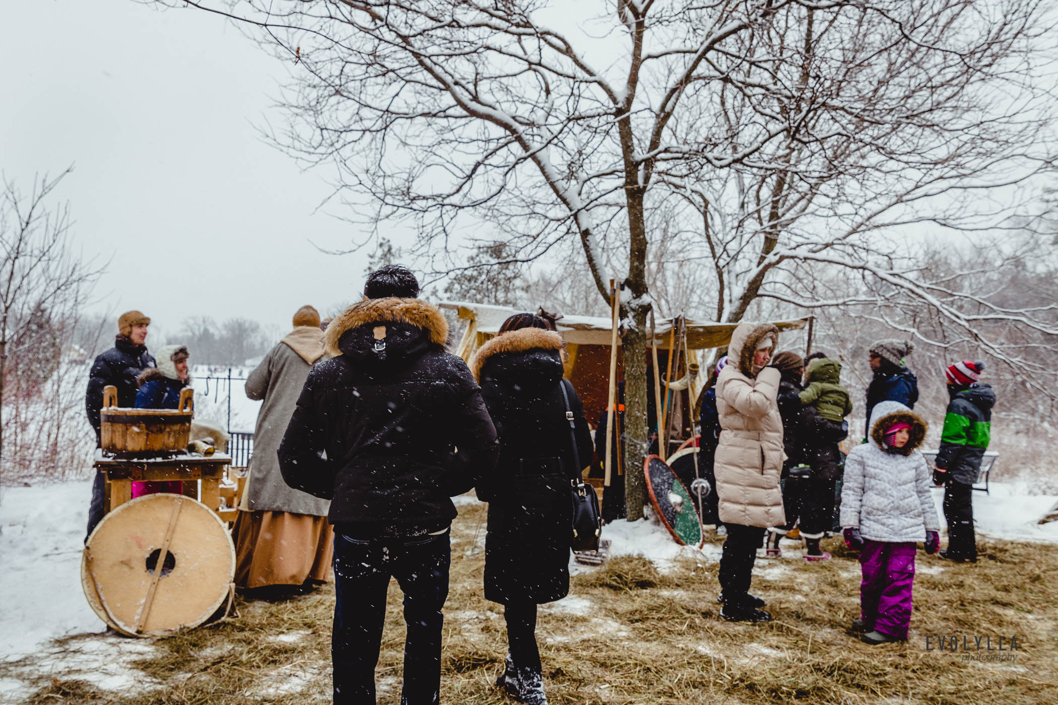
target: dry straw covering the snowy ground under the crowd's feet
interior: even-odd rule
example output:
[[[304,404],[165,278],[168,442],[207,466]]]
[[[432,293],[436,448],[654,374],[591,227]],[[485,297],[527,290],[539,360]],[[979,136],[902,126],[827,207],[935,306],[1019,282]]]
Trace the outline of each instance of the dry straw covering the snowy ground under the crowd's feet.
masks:
[[[506,653],[503,608],[481,596],[484,508],[460,507],[453,530],[445,607],[442,701],[510,702],[494,686]],[[476,540],[475,540],[476,537]],[[1052,705],[1058,692],[1058,556],[1053,546],[983,540],[981,562],[956,565],[919,554],[911,641],[870,647],[847,631],[858,615],[859,569],[843,543],[835,559],[760,561],[753,591],[776,620],[718,618],[716,564],[681,559],[658,571],[617,557],[573,578],[568,604],[541,611],[539,638],[555,705],[874,704]],[[792,543],[788,545],[794,545]],[[390,586],[379,663],[379,703],[400,701],[404,642],[400,591]],[[34,704],[77,702],[211,705],[328,702],[333,589],[282,601],[240,598],[237,618],[153,642],[129,668],[160,687],[109,692],[61,673],[41,674]],[[964,662],[927,650],[927,635],[1016,635],[1013,663]],[[80,639],[87,637],[78,637]],[[71,646],[77,639],[71,639]],[[32,661],[32,660],[31,660]],[[32,663],[0,666],[28,678]]]

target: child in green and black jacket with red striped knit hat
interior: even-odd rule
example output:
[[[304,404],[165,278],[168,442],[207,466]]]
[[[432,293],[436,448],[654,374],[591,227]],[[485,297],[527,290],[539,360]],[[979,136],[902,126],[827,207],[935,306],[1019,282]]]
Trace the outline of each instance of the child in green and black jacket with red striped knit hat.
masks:
[[[973,483],[988,448],[991,408],[996,405],[991,386],[978,384],[983,369],[984,363],[964,359],[945,370],[951,402],[944,416],[933,482],[944,485],[944,518],[948,522],[948,548],[941,557],[959,563],[978,560]]]

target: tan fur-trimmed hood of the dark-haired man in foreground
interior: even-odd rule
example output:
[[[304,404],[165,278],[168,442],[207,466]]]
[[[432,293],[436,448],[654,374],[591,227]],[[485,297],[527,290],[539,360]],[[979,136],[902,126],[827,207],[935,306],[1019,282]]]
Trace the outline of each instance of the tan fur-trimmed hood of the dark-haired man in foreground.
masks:
[[[324,347],[331,357],[346,355],[370,367],[403,365],[431,347],[443,348],[449,323],[421,299],[367,299],[331,321]]]

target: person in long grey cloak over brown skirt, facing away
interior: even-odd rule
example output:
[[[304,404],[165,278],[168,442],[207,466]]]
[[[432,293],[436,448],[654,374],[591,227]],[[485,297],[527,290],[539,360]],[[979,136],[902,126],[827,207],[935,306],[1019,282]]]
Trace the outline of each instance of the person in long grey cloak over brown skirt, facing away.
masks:
[[[250,477],[233,534],[235,581],[241,588],[325,582],[334,550],[330,502],[290,487],[277,451],[312,366],[324,357],[320,314],[294,314],[294,330],[247,378],[247,396],[263,400],[257,414]]]

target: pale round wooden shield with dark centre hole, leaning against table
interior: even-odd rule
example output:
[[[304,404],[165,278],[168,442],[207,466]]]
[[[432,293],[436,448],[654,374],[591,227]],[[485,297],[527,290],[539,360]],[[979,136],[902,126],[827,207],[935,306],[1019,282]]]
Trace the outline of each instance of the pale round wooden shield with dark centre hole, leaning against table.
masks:
[[[85,545],[81,587],[92,610],[128,636],[197,627],[229,596],[235,544],[208,507],[147,495],[104,517]]]

